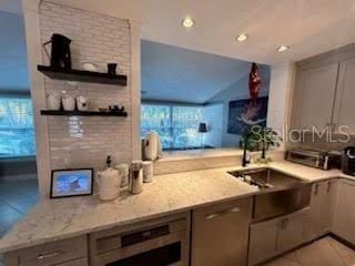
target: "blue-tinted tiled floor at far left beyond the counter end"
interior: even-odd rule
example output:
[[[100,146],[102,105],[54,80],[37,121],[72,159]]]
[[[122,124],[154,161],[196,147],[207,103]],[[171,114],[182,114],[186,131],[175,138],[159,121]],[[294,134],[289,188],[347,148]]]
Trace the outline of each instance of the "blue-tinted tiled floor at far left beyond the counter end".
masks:
[[[37,181],[0,181],[0,237],[9,231],[38,200]]]

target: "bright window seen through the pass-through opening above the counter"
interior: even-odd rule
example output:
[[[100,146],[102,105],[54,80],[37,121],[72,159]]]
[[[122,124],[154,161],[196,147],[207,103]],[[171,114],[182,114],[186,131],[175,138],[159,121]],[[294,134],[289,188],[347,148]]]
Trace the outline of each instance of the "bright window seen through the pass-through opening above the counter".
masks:
[[[141,134],[156,131],[163,150],[186,150],[201,147],[199,124],[202,109],[199,106],[142,104]]]

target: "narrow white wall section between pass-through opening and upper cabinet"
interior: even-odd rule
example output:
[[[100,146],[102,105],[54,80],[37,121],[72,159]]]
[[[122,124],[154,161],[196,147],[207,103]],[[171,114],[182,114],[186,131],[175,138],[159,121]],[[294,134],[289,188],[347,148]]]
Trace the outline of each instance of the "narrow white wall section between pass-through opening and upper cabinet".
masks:
[[[295,65],[293,63],[271,66],[267,126],[281,133],[290,123],[294,79]]]

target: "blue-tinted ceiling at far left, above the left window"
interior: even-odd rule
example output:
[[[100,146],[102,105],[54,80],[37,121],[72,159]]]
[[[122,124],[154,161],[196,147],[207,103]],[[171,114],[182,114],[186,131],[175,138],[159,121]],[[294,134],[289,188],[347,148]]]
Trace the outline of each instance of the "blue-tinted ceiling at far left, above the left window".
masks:
[[[0,92],[29,91],[23,17],[0,11]]]

